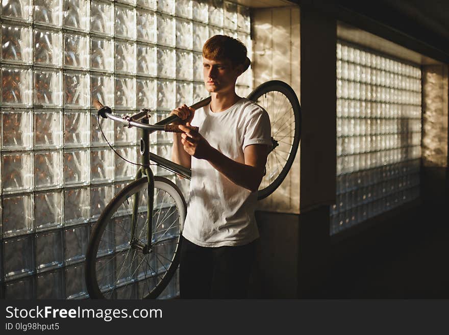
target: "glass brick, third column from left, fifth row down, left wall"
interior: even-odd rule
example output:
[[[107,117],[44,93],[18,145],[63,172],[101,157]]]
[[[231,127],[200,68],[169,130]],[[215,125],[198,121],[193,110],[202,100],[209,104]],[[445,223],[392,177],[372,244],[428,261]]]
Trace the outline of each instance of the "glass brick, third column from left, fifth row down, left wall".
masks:
[[[89,183],[89,151],[65,151],[63,158],[64,184],[78,185]]]

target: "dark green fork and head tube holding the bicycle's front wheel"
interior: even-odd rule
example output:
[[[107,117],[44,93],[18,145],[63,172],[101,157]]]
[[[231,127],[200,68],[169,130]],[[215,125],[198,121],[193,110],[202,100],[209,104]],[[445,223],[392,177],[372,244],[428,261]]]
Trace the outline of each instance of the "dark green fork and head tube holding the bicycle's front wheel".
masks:
[[[142,120],[143,123],[148,123],[148,119]],[[152,251],[152,235],[153,235],[153,203],[154,203],[154,174],[151,168],[145,167],[149,163],[149,131],[141,129],[140,131],[140,163],[142,166],[136,174],[136,180],[146,175],[148,179],[147,201],[146,201],[146,244],[143,244],[138,238],[134,236],[137,228],[137,220],[139,216],[139,194],[133,195],[133,215],[131,221],[131,240],[130,244],[133,248],[141,249],[144,254]]]

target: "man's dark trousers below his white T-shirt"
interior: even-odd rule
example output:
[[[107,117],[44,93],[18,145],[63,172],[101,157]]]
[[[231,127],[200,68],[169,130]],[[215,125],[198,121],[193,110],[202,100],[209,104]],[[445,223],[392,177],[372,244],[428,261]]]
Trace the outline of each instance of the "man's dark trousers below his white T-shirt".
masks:
[[[181,299],[246,298],[256,241],[242,246],[201,247],[182,237]]]

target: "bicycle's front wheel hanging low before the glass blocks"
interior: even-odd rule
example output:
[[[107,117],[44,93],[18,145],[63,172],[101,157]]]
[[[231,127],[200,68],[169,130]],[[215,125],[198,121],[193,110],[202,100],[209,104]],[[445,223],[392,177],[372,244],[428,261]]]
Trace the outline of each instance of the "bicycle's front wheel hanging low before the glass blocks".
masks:
[[[147,244],[146,177],[120,191],[98,218],[86,254],[91,298],[157,298],[176,272],[186,203],[179,188],[166,178],[155,177],[154,191],[149,252],[142,248]]]

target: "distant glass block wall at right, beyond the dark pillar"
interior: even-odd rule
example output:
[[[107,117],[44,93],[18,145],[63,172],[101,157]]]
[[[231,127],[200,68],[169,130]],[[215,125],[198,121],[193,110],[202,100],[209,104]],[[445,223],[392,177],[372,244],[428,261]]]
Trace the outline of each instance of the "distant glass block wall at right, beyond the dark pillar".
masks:
[[[419,66],[337,43],[337,176],[331,235],[419,196]]]

